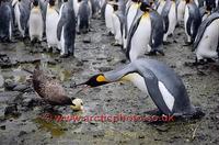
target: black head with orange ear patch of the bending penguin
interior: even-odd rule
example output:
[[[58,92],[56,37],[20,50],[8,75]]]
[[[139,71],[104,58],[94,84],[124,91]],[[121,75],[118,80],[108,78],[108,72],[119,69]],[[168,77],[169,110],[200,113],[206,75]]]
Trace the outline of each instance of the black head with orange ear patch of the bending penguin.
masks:
[[[97,75],[91,77],[88,81],[76,85],[73,87],[77,87],[77,86],[99,87],[99,86],[106,85],[106,83],[108,83],[108,81],[106,80],[104,75],[97,74]]]

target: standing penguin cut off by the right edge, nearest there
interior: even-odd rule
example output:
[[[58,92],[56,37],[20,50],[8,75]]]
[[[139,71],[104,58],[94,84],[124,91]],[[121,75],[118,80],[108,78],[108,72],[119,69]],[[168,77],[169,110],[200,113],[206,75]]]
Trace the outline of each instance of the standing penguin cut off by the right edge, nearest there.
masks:
[[[198,29],[193,51],[196,49],[196,60],[219,57],[219,12],[210,14]]]

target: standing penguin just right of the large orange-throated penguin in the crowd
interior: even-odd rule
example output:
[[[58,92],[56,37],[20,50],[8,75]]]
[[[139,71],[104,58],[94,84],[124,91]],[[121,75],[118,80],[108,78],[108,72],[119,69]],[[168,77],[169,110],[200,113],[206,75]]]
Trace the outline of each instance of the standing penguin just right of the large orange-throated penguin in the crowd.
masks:
[[[163,42],[166,42],[169,35],[173,35],[177,24],[176,3],[175,0],[166,0],[165,5],[161,12],[164,21],[164,36]]]

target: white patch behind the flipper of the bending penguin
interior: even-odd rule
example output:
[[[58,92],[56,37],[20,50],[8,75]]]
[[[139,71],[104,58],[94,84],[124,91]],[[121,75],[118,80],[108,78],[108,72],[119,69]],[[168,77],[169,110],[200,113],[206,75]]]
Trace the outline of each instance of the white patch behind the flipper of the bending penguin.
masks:
[[[172,111],[175,102],[174,97],[170,93],[170,91],[165,88],[165,86],[161,81],[159,81],[159,90],[163,97],[166,107]]]

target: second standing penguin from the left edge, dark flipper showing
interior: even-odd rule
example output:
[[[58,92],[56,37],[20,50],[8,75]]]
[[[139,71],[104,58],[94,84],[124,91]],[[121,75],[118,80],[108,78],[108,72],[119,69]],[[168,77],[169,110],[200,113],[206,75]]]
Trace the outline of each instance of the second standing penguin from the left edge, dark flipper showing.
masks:
[[[30,10],[31,2],[28,0],[19,0],[14,5],[15,21],[22,37],[25,37],[27,31]]]

